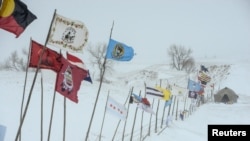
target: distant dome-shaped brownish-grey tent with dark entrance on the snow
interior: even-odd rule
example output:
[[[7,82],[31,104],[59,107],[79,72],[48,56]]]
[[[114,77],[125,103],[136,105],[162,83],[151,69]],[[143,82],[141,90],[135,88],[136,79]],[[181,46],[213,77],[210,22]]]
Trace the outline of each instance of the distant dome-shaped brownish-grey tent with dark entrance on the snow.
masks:
[[[239,96],[232,89],[225,87],[214,95],[214,101],[222,103],[236,103],[238,97]]]

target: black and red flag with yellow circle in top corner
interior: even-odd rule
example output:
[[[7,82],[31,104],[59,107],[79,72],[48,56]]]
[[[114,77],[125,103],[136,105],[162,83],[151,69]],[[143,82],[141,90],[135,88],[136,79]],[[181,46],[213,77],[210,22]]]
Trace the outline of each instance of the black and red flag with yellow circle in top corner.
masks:
[[[15,34],[16,38],[35,19],[37,19],[36,15],[30,12],[22,1],[3,1],[3,7],[0,10],[0,28]]]

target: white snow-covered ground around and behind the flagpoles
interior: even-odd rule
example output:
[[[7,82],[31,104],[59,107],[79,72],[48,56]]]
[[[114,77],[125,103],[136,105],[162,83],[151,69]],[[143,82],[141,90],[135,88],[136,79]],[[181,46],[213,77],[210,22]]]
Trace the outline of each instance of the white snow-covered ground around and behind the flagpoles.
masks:
[[[206,63],[213,65],[218,62],[207,61]],[[119,63],[119,65],[121,64]],[[236,104],[226,105],[209,102],[196,107],[192,113],[185,116],[183,121],[180,120],[179,116],[176,117],[176,111],[174,111],[172,122],[170,122],[169,127],[160,134],[159,132],[166,126],[166,114],[168,113],[168,108],[166,108],[165,113],[163,112],[163,101],[159,102],[157,119],[156,115],[151,116],[149,113],[142,112],[141,109],[138,109],[137,111],[136,105],[130,104],[126,126],[124,126],[125,122],[119,122],[119,119],[112,114],[106,113],[105,118],[103,118],[107,95],[109,94],[117,102],[124,104],[132,88],[134,93],[144,94],[144,83],[147,85],[160,84],[160,79],[162,80],[162,86],[169,82],[186,87],[188,76],[185,73],[173,71],[169,69],[168,66],[164,66],[162,64],[145,68],[144,71],[133,70],[126,73],[120,71],[120,74],[114,74],[112,78],[113,81],[111,83],[102,84],[92,126],[89,132],[89,140],[99,140],[103,121],[104,124],[101,136],[101,140],[103,141],[110,141],[113,138],[116,141],[122,140],[124,127],[124,140],[130,140],[131,135],[133,135],[133,140],[140,140],[141,138],[145,141],[205,141],[207,140],[207,126],[209,124],[250,124],[250,94],[248,91],[250,84],[250,63],[249,61],[241,61],[230,63],[230,65],[229,75],[223,81],[216,82],[215,91],[226,86],[232,88],[239,95],[239,99]],[[133,66],[133,68],[136,68],[136,66]],[[145,77],[146,75],[151,75],[154,72],[157,72],[157,78]],[[43,89],[41,89],[41,76],[43,78]],[[23,141],[48,139],[55,77],[55,73],[50,70],[43,70],[42,73],[38,74],[27,114],[22,126],[21,138]],[[25,104],[30,92],[33,78],[34,72],[28,72],[27,84],[25,88]],[[0,125],[6,127],[4,141],[15,140],[20,123],[24,81],[25,72],[0,72]],[[66,141],[85,140],[98,87],[98,81],[94,81],[93,84],[83,81],[78,92],[79,103],[76,104],[69,100],[66,101]],[[41,90],[43,90],[42,113]],[[154,111],[156,112],[158,100],[149,100],[153,105]],[[185,106],[187,108],[191,103],[191,100],[188,98],[186,105],[184,105],[184,100],[185,98],[179,99],[180,103],[177,110],[178,114],[180,111],[184,110]],[[126,104],[126,106],[128,106],[128,104]],[[163,113],[165,114],[164,117]],[[172,111],[170,113],[172,114]],[[41,114],[43,114],[42,122]],[[52,128],[49,137],[51,141],[61,141],[63,139],[63,119],[64,97],[56,93]],[[119,126],[117,126],[118,123],[120,123]],[[157,126],[155,126],[156,123]],[[150,135],[146,136],[149,131],[149,125],[151,125]],[[116,128],[117,133],[114,136]],[[41,132],[41,129],[43,132]]]

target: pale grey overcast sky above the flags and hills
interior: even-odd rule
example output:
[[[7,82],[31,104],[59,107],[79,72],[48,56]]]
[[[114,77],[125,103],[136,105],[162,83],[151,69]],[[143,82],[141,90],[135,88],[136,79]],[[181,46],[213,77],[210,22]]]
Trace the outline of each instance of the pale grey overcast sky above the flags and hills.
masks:
[[[44,44],[54,10],[85,23],[89,43],[112,38],[132,46],[134,63],[163,63],[173,44],[193,50],[195,59],[250,57],[249,0],[23,0],[38,19],[19,37],[0,29],[0,58],[29,48],[30,38]],[[55,48],[52,48],[55,49]],[[83,56],[84,53],[80,54]],[[79,55],[77,55],[79,56]]]

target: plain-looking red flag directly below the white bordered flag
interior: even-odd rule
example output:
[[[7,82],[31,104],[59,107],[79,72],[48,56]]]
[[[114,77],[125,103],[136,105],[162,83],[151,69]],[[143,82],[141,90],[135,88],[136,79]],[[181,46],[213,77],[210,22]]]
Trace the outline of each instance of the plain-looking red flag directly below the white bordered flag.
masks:
[[[29,67],[36,68],[40,56],[42,54],[43,45],[32,41],[31,52],[30,52],[30,62]],[[56,51],[53,51],[47,47],[44,49],[44,53],[42,56],[40,68],[41,69],[51,69],[55,72],[60,71],[62,63],[60,62],[61,55]]]

